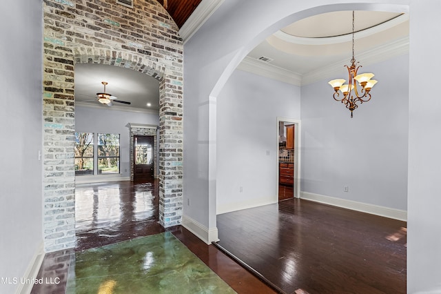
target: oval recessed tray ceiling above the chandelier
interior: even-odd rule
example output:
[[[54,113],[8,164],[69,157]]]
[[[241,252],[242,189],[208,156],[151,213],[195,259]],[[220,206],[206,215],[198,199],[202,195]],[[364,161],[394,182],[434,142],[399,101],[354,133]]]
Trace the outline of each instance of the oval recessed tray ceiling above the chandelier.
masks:
[[[376,50],[409,36],[407,14],[356,11],[354,24],[356,59],[362,52]],[[307,75],[323,66],[349,62],[351,32],[352,11],[318,14],[292,23],[267,37],[249,52],[247,61],[254,59],[261,62],[258,59],[265,56],[273,59],[267,66]]]

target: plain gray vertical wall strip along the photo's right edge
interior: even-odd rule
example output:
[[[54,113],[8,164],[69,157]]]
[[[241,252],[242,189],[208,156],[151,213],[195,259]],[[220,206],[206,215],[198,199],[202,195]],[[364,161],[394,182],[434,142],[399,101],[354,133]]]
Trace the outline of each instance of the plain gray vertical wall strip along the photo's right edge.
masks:
[[[441,1],[411,1],[407,289],[441,293]],[[437,37],[435,37],[437,36]]]

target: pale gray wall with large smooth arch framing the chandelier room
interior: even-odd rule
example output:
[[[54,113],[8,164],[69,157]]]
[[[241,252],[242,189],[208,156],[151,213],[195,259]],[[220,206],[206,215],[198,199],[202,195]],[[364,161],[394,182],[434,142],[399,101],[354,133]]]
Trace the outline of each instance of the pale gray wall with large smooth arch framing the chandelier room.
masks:
[[[216,97],[240,60],[256,43],[271,32],[311,14],[331,10],[384,10],[410,12],[409,50],[409,150],[408,150],[408,251],[407,290],[409,293],[440,293],[441,238],[441,100],[435,89],[441,68],[441,1],[380,0],[369,1],[225,1],[198,32],[185,43],[185,164],[184,197],[193,197],[196,208],[184,207],[184,213],[208,228],[216,228],[216,182],[210,166],[216,161],[209,150],[216,149],[209,127],[216,126]],[[225,21],[225,20],[228,21]],[[187,54],[188,52],[188,54]],[[381,81],[380,81],[381,82]],[[407,85],[391,82],[391,92]],[[378,84],[380,88],[380,83]],[[329,97],[329,94],[326,95]],[[359,115],[356,112],[355,115]],[[406,126],[403,126],[404,128]],[[304,164],[302,163],[302,166]],[[196,172],[196,173],[194,173]],[[209,176],[205,176],[209,175]],[[196,187],[200,187],[198,190]],[[213,204],[214,203],[214,204]]]

